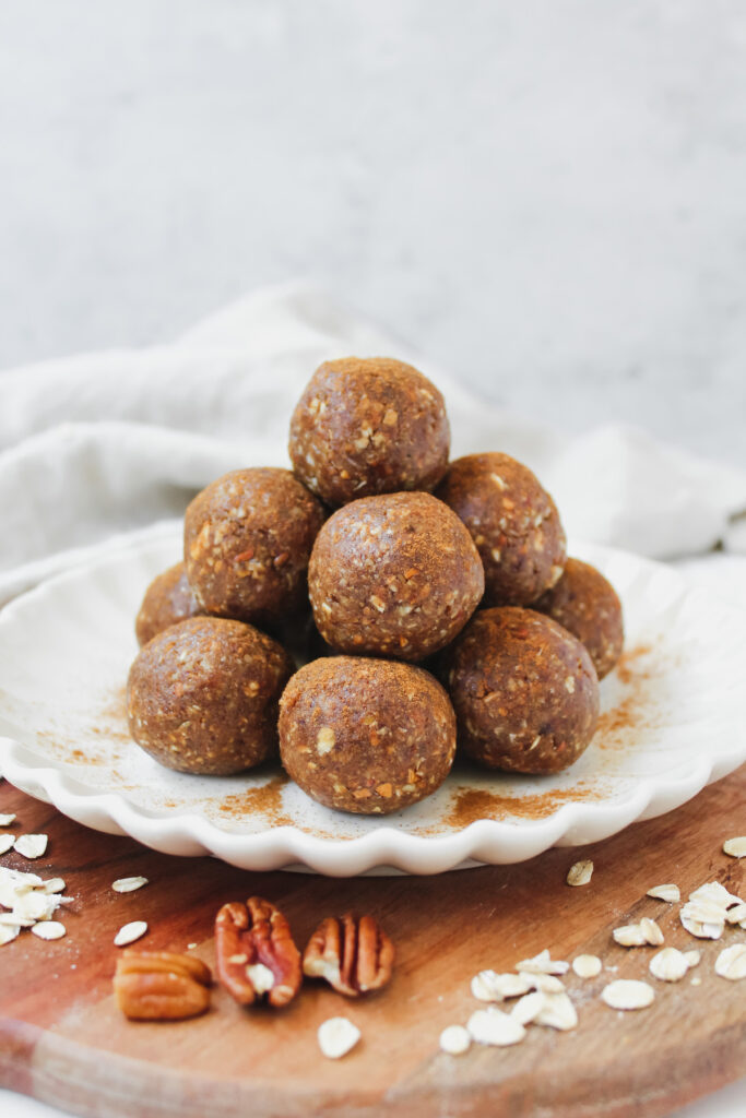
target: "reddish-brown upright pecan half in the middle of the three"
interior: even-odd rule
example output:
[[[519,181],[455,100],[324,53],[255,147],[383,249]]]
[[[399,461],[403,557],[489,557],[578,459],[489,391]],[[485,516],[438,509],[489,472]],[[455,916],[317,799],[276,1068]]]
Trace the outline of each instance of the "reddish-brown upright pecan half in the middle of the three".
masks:
[[[261,897],[223,906],[215,919],[215,947],[218,978],[239,1005],[266,994],[278,1008],[301,988],[301,953],[287,920]]]

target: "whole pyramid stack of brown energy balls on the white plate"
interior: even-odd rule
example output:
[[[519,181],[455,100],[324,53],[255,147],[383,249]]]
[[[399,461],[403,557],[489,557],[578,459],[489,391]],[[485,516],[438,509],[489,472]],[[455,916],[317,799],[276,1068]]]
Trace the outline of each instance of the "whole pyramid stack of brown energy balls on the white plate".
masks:
[[[293,472],[238,470],[189,505],[183,563],[138,615],[134,740],[217,775],[278,745],[309,796],[365,814],[433,793],[456,740],[490,768],[572,765],[622,652],[618,597],[566,558],[530,470],[448,448],[416,369],[322,364],[291,420]]]

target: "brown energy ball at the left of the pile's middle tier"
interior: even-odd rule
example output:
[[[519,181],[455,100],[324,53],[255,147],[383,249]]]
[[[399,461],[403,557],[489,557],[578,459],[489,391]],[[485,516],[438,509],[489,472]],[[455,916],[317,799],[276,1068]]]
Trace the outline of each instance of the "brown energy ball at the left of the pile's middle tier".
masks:
[[[236,470],[187,509],[183,557],[205,613],[266,625],[305,600],[321,503],[289,470]]]

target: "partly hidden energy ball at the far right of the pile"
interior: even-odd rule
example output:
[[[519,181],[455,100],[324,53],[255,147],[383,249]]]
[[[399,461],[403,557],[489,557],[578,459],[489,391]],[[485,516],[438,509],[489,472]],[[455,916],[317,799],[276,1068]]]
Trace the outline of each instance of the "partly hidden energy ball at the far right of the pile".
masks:
[[[531,606],[564,625],[591,655],[599,680],[615,666],[624,646],[622,603],[599,570],[568,559],[565,574]]]

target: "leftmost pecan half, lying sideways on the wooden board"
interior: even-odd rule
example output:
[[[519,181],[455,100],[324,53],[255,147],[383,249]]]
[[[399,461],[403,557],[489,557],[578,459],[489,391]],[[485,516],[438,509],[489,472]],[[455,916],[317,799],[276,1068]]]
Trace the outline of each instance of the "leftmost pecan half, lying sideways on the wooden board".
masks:
[[[132,1021],[179,1021],[210,1004],[209,967],[172,951],[124,951],[116,960],[114,997]]]

